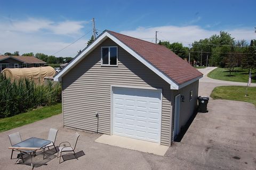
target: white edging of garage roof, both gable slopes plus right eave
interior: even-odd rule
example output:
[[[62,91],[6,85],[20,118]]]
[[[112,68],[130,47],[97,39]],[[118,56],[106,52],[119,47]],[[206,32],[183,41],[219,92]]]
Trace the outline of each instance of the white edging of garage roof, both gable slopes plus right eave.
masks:
[[[87,54],[89,54],[90,52],[92,52],[96,47],[98,47],[103,41],[105,41],[107,38],[110,38],[112,41],[114,41],[116,44],[118,44],[119,46],[121,46],[122,48],[124,48],[124,50],[126,50],[127,52],[129,52],[131,55],[133,55],[136,59],[138,59],[140,62],[142,62],[143,64],[145,64],[145,66],[147,66],[150,70],[154,71],[155,74],[157,74],[159,77],[161,77],[162,79],[164,79],[167,83],[169,83],[171,86],[170,88],[172,90],[179,90],[180,88],[195,82],[196,80],[198,80],[201,77],[197,77],[193,80],[190,80],[189,82],[186,82],[184,84],[179,85],[178,83],[176,83],[174,80],[172,80],[169,76],[165,75],[164,72],[162,72],[161,70],[159,70],[158,68],[156,68],[153,64],[151,64],[149,61],[147,61],[146,59],[144,59],[141,55],[139,55],[138,53],[136,53],[135,51],[133,51],[129,46],[125,45],[123,42],[119,41],[119,39],[117,39],[114,35],[108,33],[108,31],[103,31],[103,33],[97,37],[93,43],[91,43],[89,46],[87,46],[86,48],[84,48],[84,50],[77,54],[75,56],[75,58],[73,60],[71,60],[66,67],[64,67],[57,75],[54,76],[54,81],[61,81],[61,78],[67,74],[67,72],[69,70],[71,70],[72,68],[74,68],[76,66],[77,63],[79,63],[81,60],[83,60]]]

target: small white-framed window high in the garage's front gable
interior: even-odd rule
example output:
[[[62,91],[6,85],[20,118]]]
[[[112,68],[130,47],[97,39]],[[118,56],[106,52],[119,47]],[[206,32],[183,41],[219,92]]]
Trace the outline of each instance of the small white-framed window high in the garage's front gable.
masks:
[[[117,66],[117,47],[101,47],[101,66]]]

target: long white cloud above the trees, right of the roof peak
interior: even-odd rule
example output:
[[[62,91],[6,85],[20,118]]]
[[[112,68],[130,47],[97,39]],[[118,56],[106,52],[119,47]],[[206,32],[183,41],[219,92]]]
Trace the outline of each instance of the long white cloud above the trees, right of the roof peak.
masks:
[[[157,39],[161,41],[170,42],[183,42],[183,45],[187,46],[188,43],[193,43],[199,39],[209,38],[213,34],[219,34],[220,30],[207,30],[199,26],[160,26],[160,27],[139,27],[135,30],[121,31],[121,34],[129,35],[138,38],[151,38],[145,39],[149,42],[154,42],[155,31],[159,31]],[[238,28],[223,30],[231,34],[235,40],[246,39],[250,41],[255,38],[255,33],[252,29]]]

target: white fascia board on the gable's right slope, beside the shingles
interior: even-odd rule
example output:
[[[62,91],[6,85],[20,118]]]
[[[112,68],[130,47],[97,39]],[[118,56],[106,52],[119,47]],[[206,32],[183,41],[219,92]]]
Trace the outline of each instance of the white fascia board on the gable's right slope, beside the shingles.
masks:
[[[115,36],[107,33],[107,36],[112,39],[116,44],[118,44],[119,46],[121,46],[122,48],[124,48],[124,50],[126,50],[127,52],[129,52],[131,55],[133,55],[136,59],[138,59],[140,62],[142,62],[143,64],[145,64],[145,66],[147,66],[150,70],[154,71],[158,76],[160,76],[161,78],[163,78],[167,83],[169,83],[174,89],[179,89],[179,85],[176,84],[173,80],[171,80],[168,76],[166,76],[165,74],[163,74],[163,72],[161,72],[159,69],[157,69],[155,66],[153,66],[149,61],[147,61],[146,59],[142,58],[139,54],[137,54],[136,52],[134,52],[131,48],[129,48],[127,45],[125,45],[124,43],[122,43],[121,41],[119,41],[119,39],[117,39]]]

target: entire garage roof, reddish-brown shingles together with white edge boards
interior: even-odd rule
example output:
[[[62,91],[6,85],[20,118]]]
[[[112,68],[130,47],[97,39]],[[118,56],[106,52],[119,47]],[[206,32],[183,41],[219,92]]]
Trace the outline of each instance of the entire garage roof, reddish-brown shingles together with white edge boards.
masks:
[[[70,61],[59,74],[55,75],[54,80],[60,80],[63,75],[75,67],[78,62],[107,38],[110,38],[149,69],[153,70],[171,85],[171,89],[178,90],[203,77],[201,72],[162,45],[105,30],[93,43],[84,48],[81,53]]]

